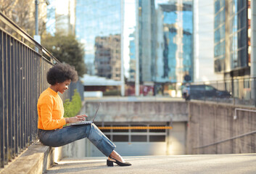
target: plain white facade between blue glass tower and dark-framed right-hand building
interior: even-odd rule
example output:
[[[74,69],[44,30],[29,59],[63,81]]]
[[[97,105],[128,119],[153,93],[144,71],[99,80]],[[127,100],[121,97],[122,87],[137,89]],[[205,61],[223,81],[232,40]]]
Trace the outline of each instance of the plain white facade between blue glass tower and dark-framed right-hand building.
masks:
[[[194,82],[222,80],[214,70],[214,0],[193,1]]]

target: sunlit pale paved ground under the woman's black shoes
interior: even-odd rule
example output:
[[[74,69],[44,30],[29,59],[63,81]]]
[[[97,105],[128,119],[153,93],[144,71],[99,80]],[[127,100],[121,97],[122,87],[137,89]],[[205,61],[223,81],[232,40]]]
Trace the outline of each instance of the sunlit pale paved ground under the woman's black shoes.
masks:
[[[256,173],[256,154],[125,157],[130,167],[107,167],[102,157],[63,159],[50,173]]]

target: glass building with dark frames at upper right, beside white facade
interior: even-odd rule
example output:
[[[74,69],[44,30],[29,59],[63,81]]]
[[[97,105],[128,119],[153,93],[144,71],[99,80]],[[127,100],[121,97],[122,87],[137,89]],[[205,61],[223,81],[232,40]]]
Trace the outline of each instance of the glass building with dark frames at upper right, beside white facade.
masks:
[[[250,2],[215,0],[215,72],[225,78],[250,75]]]

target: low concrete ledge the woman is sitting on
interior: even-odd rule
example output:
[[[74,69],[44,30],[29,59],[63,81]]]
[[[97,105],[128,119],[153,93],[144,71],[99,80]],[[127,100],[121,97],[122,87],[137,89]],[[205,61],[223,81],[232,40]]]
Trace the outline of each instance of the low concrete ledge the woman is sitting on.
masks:
[[[28,149],[17,157],[10,165],[0,171],[1,174],[8,173],[44,173],[53,165],[54,160],[59,160],[61,153],[59,148],[44,146],[39,141],[28,146]]]

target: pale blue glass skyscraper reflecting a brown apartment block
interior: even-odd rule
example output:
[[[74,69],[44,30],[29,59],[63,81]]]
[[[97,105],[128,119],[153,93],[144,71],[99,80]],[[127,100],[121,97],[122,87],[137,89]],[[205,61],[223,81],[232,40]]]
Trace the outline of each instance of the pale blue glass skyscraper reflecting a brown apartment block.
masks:
[[[87,73],[120,80],[121,1],[76,0],[75,35],[84,44]]]

